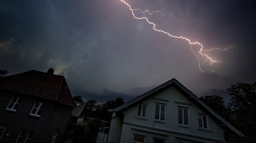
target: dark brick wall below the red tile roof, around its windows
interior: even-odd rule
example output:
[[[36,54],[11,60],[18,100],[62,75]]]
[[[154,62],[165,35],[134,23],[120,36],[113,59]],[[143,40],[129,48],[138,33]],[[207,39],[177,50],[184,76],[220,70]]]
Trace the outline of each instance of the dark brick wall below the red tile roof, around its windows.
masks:
[[[12,96],[22,99],[16,111],[5,109]],[[29,115],[35,101],[44,103],[40,117]],[[49,143],[52,141],[55,131],[58,131],[55,142],[61,142],[72,109],[73,107],[54,101],[0,91],[0,125],[7,127],[0,143],[15,142],[22,129],[25,131],[24,139],[29,130],[33,130],[31,142]]]

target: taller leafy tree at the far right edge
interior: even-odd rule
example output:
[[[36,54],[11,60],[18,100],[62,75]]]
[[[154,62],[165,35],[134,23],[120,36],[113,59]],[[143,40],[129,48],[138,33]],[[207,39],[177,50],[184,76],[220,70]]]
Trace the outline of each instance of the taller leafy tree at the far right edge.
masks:
[[[237,83],[227,89],[230,95],[228,107],[231,109],[231,124],[244,137],[236,137],[233,142],[254,142],[256,136],[256,82]]]

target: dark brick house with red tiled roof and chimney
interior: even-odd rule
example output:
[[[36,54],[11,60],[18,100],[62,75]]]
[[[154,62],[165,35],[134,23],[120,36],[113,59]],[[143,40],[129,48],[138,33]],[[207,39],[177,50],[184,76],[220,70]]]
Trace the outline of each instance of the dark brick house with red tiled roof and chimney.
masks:
[[[75,106],[64,76],[31,70],[0,79],[0,142],[61,142]]]

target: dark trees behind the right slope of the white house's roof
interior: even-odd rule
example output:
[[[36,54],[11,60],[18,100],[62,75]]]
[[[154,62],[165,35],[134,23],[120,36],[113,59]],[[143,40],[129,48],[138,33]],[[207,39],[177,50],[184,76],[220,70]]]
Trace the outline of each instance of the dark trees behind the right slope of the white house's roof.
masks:
[[[230,130],[226,130],[228,142],[255,142],[256,82],[252,84],[237,83],[227,88],[227,91],[230,95],[228,107],[225,106],[223,98],[217,95],[203,96],[200,99],[244,134],[244,137],[241,137]]]

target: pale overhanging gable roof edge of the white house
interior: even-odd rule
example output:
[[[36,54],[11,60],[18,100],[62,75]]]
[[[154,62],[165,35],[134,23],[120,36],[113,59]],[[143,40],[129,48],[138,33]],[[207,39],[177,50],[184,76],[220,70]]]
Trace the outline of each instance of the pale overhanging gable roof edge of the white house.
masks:
[[[202,105],[205,109],[207,109],[210,113],[212,113],[212,115],[214,115],[217,119],[219,119],[221,122],[223,122],[224,124],[226,124],[232,131],[234,131],[235,133],[237,133],[238,135],[243,136],[243,134],[241,132],[239,132],[235,127],[233,127],[230,123],[228,123],[225,119],[223,119],[220,115],[218,115],[214,110],[212,110],[209,106],[207,106],[204,102],[202,102],[195,94],[193,94],[191,91],[189,91],[184,85],[182,85],[178,80],[176,80],[175,78],[159,85],[158,87],[140,95],[137,96],[136,98],[126,102],[125,104],[113,108],[113,109],[109,109],[108,111],[120,111],[124,108],[127,108],[128,106],[137,103],[138,101],[143,100],[143,98],[152,95],[153,93],[158,92],[159,90],[166,88],[170,85],[176,84],[180,89],[182,89],[185,93],[187,93],[191,98],[195,99],[196,102],[198,102],[200,105]]]

